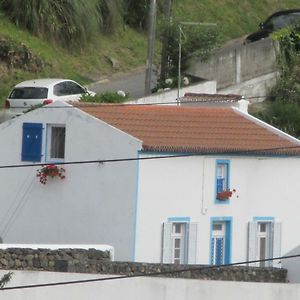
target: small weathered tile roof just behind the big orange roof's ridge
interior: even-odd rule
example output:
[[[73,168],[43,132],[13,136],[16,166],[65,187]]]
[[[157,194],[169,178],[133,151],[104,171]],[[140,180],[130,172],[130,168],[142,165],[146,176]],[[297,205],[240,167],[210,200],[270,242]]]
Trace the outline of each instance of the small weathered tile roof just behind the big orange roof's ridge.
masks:
[[[182,102],[238,102],[243,97],[236,94],[198,94],[198,93],[185,93],[180,98]]]

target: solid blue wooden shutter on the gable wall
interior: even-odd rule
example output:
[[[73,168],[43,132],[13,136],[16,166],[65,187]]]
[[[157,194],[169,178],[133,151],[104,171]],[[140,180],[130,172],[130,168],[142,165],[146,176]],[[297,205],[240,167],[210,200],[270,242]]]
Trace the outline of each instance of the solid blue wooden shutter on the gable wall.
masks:
[[[41,123],[23,123],[22,161],[41,161],[42,130]]]

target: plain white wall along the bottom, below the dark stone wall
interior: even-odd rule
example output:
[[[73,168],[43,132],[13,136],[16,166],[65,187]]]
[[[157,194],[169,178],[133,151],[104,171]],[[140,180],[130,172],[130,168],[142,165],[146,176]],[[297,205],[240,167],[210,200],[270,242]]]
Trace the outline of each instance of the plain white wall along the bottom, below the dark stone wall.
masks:
[[[0,271],[0,276],[5,273]],[[15,271],[7,287],[105,277],[113,276]],[[300,298],[300,285],[145,277],[1,291],[3,300],[139,300],[141,298],[144,300],[297,300]]]

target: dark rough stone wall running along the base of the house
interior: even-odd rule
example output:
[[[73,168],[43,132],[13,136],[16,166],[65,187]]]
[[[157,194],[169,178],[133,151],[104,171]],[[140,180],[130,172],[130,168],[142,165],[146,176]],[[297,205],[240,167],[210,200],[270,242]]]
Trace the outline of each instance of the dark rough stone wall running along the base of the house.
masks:
[[[56,271],[91,274],[143,275],[254,282],[286,282],[287,271],[279,268],[235,266],[215,268],[200,265],[112,262],[109,252],[95,249],[21,249],[0,250],[0,269]],[[174,270],[188,269],[184,272]]]

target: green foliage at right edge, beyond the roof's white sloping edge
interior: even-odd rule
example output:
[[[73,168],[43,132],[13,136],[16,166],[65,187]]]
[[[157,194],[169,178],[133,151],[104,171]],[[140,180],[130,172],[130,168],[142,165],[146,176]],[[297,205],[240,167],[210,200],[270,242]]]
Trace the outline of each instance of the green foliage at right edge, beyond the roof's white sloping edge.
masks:
[[[256,117],[300,138],[300,24],[272,35],[279,43],[280,77],[270,91],[266,108]]]

